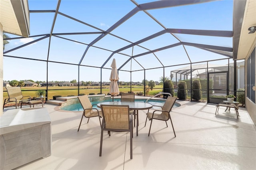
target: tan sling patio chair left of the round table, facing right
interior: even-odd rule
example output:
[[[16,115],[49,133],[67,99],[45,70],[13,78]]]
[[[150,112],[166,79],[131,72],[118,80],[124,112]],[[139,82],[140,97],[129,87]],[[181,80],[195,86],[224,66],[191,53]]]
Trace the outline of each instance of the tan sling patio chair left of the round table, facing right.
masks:
[[[79,125],[77,131],[79,131],[79,129],[80,129],[83,117],[88,118],[87,123],[89,122],[90,117],[98,117],[99,120],[102,117],[101,111],[97,108],[93,108],[94,105],[92,105],[92,103],[90,102],[90,99],[88,98],[87,95],[78,96],[78,100],[80,101],[80,103],[84,109],[84,112],[83,112],[83,115],[82,115],[82,118],[80,121],[80,125]],[[100,126],[101,126],[101,122],[100,122]]]

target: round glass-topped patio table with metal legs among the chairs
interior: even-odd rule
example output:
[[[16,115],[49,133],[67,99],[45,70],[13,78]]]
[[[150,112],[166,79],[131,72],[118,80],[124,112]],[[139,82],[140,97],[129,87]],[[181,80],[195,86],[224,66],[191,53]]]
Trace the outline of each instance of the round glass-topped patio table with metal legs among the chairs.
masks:
[[[136,110],[137,115],[137,127],[136,127],[136,135],[138,136],[138,125],[139,125],[139,119],[138,119],[138,110],[146,110],[151,109],[153,105],[150,103],[144,103],[144,102],[120,102],[120,101],[108,101],[108,102],[102,102],[98,103],[97,107],[100,108],[100,105],[129,105],[130,110]]]

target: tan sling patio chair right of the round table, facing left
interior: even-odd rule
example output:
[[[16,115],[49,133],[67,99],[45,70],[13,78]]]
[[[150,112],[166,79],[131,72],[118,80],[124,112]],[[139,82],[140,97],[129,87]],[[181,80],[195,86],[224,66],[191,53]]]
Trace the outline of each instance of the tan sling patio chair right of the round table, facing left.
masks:
[[[155,110],[155,111],[153,111],[153,113],[151,113],[151,112],[146,113],[148,120],[151,121],[148,136],[150,134],[150,129],[151,129],[153,119],[160,120],[160,121],[165,121],[167,127],[168,127],[167,121],[170,119],[171,124],[172,124],[170,111],[172,111],[172,107],[173,107],[176,99],[177,99],[176,97],[168,96],[164,105],[161,107],[162,108],[161,110]],[[159,114],[159,112],[160,112],[160,114]],[[146,127],[146,123],[147,123],[147,118],[146,118],[146,122],[145,122],[145,127]],[[172,129],[173,129],[173,132],[174,132],[174,136],[176,137],[173,124],[172,124]]]

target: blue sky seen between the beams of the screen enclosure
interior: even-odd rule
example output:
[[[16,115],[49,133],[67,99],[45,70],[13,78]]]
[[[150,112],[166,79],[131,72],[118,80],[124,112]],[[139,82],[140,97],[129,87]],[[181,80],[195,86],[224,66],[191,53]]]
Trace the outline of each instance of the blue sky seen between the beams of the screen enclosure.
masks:
[[[57,2],[57,0],[28,0],[30,10],[55,10]],[[144,4],[152,1],[140,0],[136,2],[138,4]],[[95,28],[58,14],[53,33],[106,31],[135,7],[136,6],[129,0],[62,0],[59,12],[76,18]],[[166,28],[232,31],[232,0],[162,8],[148,10],[147,12]],[[54,13],[30,13],[30,36],[49,34],[53,18]],[[100,81],[101,71],[97,67],[103,65],[106,59],[112,54],[112,51],[118,50],[129,45],[131,42],[137,42],[162,30],[164,30],[164,28],[147,14],[142,11],[137,12],[111,32],[111,34],[126,39],[128,42],[116,38],[115,36],[107,35],[88,49],[81,64],[93,67],[80,66],[80,81]],[[92,42],[99,35],[100,34],[62,35],[60,36],[61,38],[52,36],[49,61],[78,64],[87,47],[86,44]],[[12,34],[8,34],[8,36],[18,37]],[[188,34],[174,34],[174,36],[182,42],[232,47],[232,38]],[[116,59],[117,68],[120,68],[121,65],[129,59],[129,56],[138,55],[148,50],[158,49],[179,42],[174,36],[163,34],[152,40],[141,43],[140,46],[135,46],[133,49],[129,48],[121,51],[122,54],[114,54],[104,66],[105,69],[102,69],[102,81],[109,81],[111,72],[110,65],[113,58]],[[8,51],[14,47],[42,37],[43,36],[11,40],[10,43],[5,46],[4,51]],[[64,38],[73,41],[64,40]],[[5,53],[4,55],[46,60],[48,56],[48,45],[49,38],[45,38],[20,49]],[[143,68],[148,69],[146,70],[147,80],[158,81],[159,78],[163,76],[163,68],[151,68],[162,67],[162,65],[180,65],[189,63],[190,60],[192,62],[200,62],[221,58],[227,57],[210,53],[196,47],[183,47],[180,45],[132,59],[119,71],[119,81],[130,81],[130,71],[134,71],[132,72],[132,81],[142,81],[144,79]],[[46,81],[46,62],[28,59],[4,57],[4,80],[32,79],[34,81]],[[78,81],[78,66],[62,63],[49,62],[48,81],[71,81],[73,79]],[[210,63],[221,65],[227,62],[212,61]],[[170,76],[170,71],[185,66],[186,65],[166,67],[164,69],[165,77]]]

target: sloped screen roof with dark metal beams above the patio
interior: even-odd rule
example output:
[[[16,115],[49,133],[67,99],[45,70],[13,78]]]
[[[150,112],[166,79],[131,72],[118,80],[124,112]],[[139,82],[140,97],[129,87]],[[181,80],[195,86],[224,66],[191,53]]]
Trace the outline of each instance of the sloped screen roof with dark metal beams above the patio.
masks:
[[[111,69],[115,58],[118,70],[128,75],[232,58],[232,1],[29,0],[28,4],[30,38],[8,34],[5,57],[79,65],[80,72],[82,66],[92,71]]]

